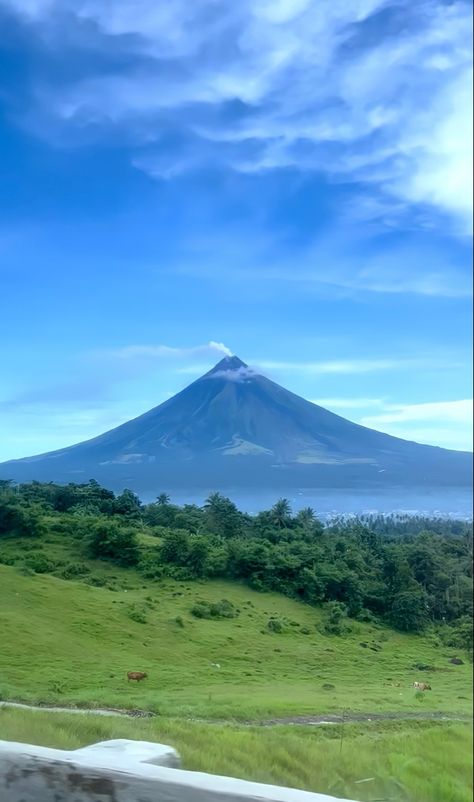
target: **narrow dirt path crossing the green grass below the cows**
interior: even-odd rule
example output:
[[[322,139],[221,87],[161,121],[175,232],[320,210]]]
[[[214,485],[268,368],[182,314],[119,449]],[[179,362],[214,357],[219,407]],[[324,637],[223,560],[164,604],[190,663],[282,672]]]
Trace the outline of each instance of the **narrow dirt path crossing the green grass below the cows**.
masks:
[[[28,705],[23,702],[2,702],[0,700],[0,710],[2,708],[16,708],[19,710],[37,710],[43,713],[76,713],[82,715],[96,715],[96,716],[121,716],[122,718],[152,718],[157,713],[152,713],[147,710],[126,710],[115,708],[99,708],[99,707],[47,707],[45,705]],[[209,719],[195,719],[201,723],[208,724],[223,724],[229,723],[228,721],[211,721]],[[393,713],[346,713],[344,715],[336,715],[334,713],[327,713],[326,715],[318,716],[288,716],[286,718],[272,718],[263,721],[242,721],[235,722],[242,726],[253,727],[274,727],[277,725],[309,725],[309,726],[323,726],[328,724],[343,724],[343,723],[357,723],[357,722],[370,722],[370,721],[472,721],[472,716],[468,715],[450,715],[449,713],[442,713],[440,711],[420,711],[415,713],[410,712],[393,712]]]

